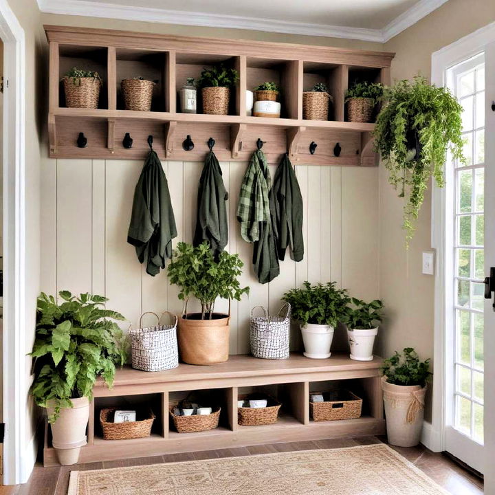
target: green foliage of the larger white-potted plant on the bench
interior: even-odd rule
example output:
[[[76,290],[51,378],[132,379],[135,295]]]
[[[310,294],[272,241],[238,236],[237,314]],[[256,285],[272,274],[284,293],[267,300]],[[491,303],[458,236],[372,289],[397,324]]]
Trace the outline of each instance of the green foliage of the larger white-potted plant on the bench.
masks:
[[[290,289],[283,300],[291,305],[292,318],[306,325],[331,325],[335,327],[347,314],[351,299],[345,289],[337,289],[336,282],[311,285],[306,281],[303,288]]]

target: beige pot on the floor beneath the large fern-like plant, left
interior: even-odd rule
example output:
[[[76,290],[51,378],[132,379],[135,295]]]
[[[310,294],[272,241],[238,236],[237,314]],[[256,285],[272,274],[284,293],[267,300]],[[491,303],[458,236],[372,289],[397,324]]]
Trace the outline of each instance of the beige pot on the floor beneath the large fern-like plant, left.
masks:
[[[79,459],[80,448],[86,445],[86,426],[89,419],[89,400],[87,397],[71,399],[74,407],[62,408],[58,419],[51,423],[52,443],[61,465],[75,464]],[[47,408],[48,415],[54,408]]]

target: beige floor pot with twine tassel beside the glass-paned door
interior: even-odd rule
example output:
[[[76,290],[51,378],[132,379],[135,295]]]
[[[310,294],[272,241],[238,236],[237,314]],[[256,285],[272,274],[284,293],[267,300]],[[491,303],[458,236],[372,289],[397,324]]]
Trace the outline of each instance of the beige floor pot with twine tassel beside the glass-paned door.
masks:
[[[394,385],[382,379],[388,443],[414,447],[421,439],[426,386]]]

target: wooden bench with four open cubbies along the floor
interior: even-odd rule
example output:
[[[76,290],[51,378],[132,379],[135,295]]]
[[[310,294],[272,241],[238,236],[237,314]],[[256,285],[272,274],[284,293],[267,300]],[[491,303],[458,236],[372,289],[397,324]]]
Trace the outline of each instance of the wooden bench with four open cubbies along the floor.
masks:
[[[380,388],[381,358],[353,361],[348,355],[311,360],[292,354],[287,360],[260,360],[250,355],[232,355],[228,362],[213,366],[179,364],[178,368],[146,373],[130,367],[117,371],[113,388],[101,380],[91,402],[88,443],[81,449],[79,463],[110,461],[176,452],[192,452],[263,443],[357,437],[384,434],[385,421]],[[359,393],[363,415],[359,419],[312,421],[309,392],[342,386]],[[239,426],[237,400],[241,393],[264,390],[283,404],[278,421],[266,426]],[[189,391],[218,391],[221,397],[219,428],[206,432],[177,433],[169,421],[170,404]],[[102,407],[151,406],[157,419],[151,437],[132,440],[104,440],[100,432]],[[57,465],[50,428],[45,429],[45,466]]]

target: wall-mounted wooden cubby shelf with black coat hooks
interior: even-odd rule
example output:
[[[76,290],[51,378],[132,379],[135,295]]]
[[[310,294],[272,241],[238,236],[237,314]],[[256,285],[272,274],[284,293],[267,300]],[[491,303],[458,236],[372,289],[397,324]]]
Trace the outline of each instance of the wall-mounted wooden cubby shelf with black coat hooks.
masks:
[[[292,161],[309,165],[376,164],[374,124],[346,122],[344,94],[356,78],[388,84],[394,54],[61,26],[45,26],[45,31],[50,42],[50,157],[144,159],[146,138],[153,135],[153,148],[162,159],[202,160],[213,137],[220,160],[246,161],[260,137],[272,163],[287,152]],[[229,115],[200,113],[201,91],[199,113],[180,113],[177,91],[186,77],[197,78],[203,67],[219,62],[239,72]],[[60,79],[74,66],[102,75],[98,109],[65,107]],[[149,112],[123,109],[120,80],[137,76],[156,83]],[[281,85],[282,118],[246,115],[246,89],[265,80]],[[304,120],[303,91],[318,82],[327,83],[333,96],[331,120]],[[85,148],[76,146],[80,132],[87,137]],[[133,138],[130,149],[122,145],[125,133]],[[182,148],[186,135],[195,142],[192,151]],[[312,141],[318,144],[314,155],[309,153]],[[337,142],[342,148],[338,157],[333,154]]]

